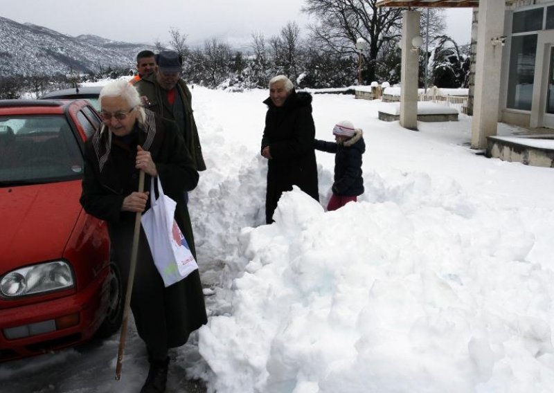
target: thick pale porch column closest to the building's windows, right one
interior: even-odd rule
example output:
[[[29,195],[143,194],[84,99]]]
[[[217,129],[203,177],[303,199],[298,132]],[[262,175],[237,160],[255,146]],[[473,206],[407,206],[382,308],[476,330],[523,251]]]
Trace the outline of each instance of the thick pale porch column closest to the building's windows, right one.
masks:
[[[497,134],[505,1],[479,1],[472,149],[486,149],[487,136]]]

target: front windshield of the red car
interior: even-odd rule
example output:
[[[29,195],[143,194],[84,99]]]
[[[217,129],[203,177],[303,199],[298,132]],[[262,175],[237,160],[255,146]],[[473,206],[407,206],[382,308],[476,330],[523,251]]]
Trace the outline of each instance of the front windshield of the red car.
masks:
[[[0,186],[80,179],[82,168],[65,116],[0,116]]]

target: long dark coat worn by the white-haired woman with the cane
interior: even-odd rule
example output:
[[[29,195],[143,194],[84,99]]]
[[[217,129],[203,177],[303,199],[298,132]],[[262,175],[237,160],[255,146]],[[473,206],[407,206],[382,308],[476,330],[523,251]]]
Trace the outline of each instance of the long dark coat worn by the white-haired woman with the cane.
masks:
[[[104,129],[97,131],[85,145],[80,201],[89,214],[107,221],[112,251],[124,281],[123,293],[129,275],[136,213],[120,209],[123,199],[139,187],[139,171],[134,167],[137,144],[150,151],[163,191],[177,201],[175,219],[195,255],[184,192],[196,187],[198,172],[179,137],[175,122],[154,116],[151,111],[146,112],[147,126],[139,126],[137,122],[131,135],[124,138],[112,136],[110,145],[109,131]],[[145,176],[145,189],[150,189],[148,175]],[[149,207],[150,204],[147,209]],[[198,271],[165,288],[142,228],[131,309],[139,336],[154,355],[160,356],[170,347],[183,345],[189,333],[207,321]]]

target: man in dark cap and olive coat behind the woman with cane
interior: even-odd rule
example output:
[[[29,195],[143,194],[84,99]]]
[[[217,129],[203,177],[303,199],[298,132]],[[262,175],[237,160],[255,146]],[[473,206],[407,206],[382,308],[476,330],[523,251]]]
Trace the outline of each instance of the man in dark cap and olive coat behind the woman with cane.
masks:
[[[175,51],[161,51],[156,62],[157,72],[143,77],[134,86],[142,96],[146,108],[177,123],[185,145],[193,156],[195,169],[206,170],[191,104],[193,96],[184,80],[179,77],[181,56]]]

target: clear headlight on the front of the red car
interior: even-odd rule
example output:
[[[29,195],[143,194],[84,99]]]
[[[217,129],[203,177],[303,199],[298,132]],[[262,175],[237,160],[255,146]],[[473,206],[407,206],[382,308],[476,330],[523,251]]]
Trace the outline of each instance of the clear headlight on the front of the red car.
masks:
[[[46,262],[10,271],[0,280],[0,296],[13,299],[60,291],[73,286],[71,266],[64,261]]]

